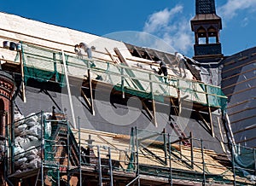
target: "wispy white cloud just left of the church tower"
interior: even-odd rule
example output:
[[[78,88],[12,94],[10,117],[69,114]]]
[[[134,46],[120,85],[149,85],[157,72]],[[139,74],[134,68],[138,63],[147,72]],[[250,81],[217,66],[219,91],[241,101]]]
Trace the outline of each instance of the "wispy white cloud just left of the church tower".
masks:
[[[170,47],[168,51],[179,51],[183,54],[191,51],[194,38],[191,32],[189,20],[183,15],[183,6],[177,5],[173,9],[164,9],[159,12],[149,15],[146,21],[143,32],[151,33],[161,39]],[[155,42],[152,48],[162,49],[161,42]]]

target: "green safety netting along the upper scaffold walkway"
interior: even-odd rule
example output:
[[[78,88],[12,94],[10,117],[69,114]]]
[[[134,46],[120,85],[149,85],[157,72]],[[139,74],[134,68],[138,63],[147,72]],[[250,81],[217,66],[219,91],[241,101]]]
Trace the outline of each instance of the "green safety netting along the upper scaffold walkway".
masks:
[[[24,45],[22,57],[25,82],[28,78],[35,78],[38,81],[53,80],[61,86],[65,85],[61,52]],[[65,55],[65,61],[68,75],[84,78],[87,69],[90,69],[91,78],[113,84],[115,90],[134,96],[163,102],[164,96],[177,97],[179,92],[185,101],[226,109],[227,98],[217,86],[179,77],[169,77],[169,83],[166,84],[162,76],[142,69],[98,60],[93,61],[96,67],[91,67],[91,61],[87,58],[81,59],[73,55]]]

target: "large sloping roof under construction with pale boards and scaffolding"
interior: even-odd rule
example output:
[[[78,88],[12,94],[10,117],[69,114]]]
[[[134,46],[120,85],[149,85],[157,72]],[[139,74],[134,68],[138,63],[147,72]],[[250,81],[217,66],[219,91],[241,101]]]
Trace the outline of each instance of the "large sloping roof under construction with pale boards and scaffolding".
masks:
[[[16,85],[9,183],[254,184],[255,150],[230,145],[227,97],[189,57],[180,67],[172,53],[0,17],[0,42],[21,47],[0,48]],[[80,42],[93,46],[92,59],[73,51]]]

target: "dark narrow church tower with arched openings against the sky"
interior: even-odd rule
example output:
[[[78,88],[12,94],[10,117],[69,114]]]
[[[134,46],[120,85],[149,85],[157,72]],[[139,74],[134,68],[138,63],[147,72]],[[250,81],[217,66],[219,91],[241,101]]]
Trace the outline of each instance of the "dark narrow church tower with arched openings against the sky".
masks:
[[[222,24],[221,18],[216,15],[215,1],[195,0],[195,17],[190,23],[192,31],[195,32],[194,59],[215,61],[221,58],[223,55],[219,31]]]

